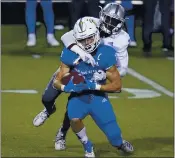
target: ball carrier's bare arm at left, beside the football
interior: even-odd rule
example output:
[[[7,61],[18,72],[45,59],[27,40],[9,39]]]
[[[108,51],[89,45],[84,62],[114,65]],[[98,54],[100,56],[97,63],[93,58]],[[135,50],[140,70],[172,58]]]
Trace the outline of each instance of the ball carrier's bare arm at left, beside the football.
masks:
[[[65,85],[62,84],[61,80],[65,74],[67,74],[70,71],[70,67],[65,65],[64,63],[61,63],[59,72],[56,74],[53,86],[56,89],[61,89],[62,91],[64,90]]]

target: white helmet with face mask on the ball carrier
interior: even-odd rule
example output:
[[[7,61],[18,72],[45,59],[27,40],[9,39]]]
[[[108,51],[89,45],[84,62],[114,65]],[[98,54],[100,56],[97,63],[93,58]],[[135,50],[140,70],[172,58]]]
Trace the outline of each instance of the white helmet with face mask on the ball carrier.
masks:
[[[90,17],[79,19],[73,29],[77,45],[87,53],[92,53],[100,44],[100,33]]]

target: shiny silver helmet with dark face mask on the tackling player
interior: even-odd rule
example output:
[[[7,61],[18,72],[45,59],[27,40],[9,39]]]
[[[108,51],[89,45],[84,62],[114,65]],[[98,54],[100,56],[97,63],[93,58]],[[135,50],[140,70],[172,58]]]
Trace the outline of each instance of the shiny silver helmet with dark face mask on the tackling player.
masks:
[[[125,22],[125,9],[118,3],[108,3],[100,11],[100,29],[108,34],[119,32]]]

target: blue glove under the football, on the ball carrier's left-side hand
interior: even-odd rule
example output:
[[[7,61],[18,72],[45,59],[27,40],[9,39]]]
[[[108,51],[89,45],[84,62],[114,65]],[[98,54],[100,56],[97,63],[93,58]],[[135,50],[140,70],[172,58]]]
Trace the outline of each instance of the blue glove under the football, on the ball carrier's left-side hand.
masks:
[[[73,78],[74,77],[71,77],[71,79],[68,82],[68,84],[61,88],[64,92],[66,92],[66,93],[71,93],[71,92],[80,93],[83,90],[87,90],[88,89],[87,84],[83,84],[83,83],[74,84],[73,83]]]

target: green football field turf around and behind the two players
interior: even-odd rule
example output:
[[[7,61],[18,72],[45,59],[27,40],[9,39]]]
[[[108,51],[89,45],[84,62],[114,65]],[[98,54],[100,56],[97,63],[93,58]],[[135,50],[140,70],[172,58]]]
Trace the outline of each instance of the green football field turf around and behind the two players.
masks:
[[[64,31],[56,31],[57,39]],[[47,46],[43,26],[37,30],[38,40],[34,48],[25,47],[25,26],[2,26],[1,32],[1,156],[83,157],[82,145],[71,130],[67,135],[67,149],[54,149],[55,134],[61,125],[68,95],[62,94],[57,99],[57,111],[44,125],[36,128],[32,124],[33,118],[43,109],[41,96],[59,66],[63,47]],[[129,157],[173,157],[173,60],[166,59],[161,53],[162,37],[159,34],[153,36],[153,57],[144,58],[141,29],[137,28],[136,33],[138,47],[129,49],[129,67],[154,82],[148,84],[143,77],[139,80],[138,75],[128,74],[122,79],[123,92],[110,95],[111,102],[123,137],[135,148]],[[33,58],[33,54],[41,57]],[[164,89],[159,89],[156,84]],[[26,92],[35,93],[12,93],[8,90],[33,90]],[[97,157],[120,156],[89,116],[84,122]]]

